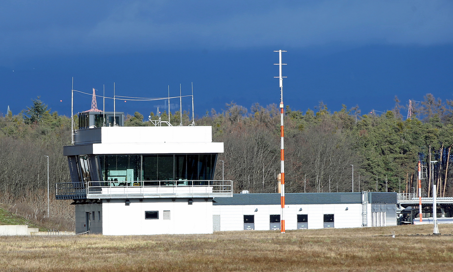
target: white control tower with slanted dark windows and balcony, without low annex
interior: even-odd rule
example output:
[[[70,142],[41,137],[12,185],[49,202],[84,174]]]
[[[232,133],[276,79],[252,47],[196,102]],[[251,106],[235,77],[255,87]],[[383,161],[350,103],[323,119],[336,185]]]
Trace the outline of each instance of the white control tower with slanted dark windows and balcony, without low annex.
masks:
[[[212,199],[232,186],[213,180],[223,143],[211,127],[123,127],[116,115],[120,126],[97,128],[102,112],[79,114],[82,129],[63,148],[72,182],[57,183],[56,198],[74,200],[76,233],[212,233]]]

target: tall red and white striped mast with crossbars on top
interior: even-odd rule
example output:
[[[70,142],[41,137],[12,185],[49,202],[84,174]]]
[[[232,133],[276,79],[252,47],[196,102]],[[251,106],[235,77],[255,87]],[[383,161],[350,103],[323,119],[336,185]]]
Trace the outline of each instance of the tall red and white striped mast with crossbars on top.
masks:
[[[283,148],[283,78],[287,76],[282,76],[282,52],[287,52],[284,50],[278,50],[274,52],[279,52],[279,63],[274,63],[274,65],[279,66],[280,76],[280,173],[281,173],[281,191],[280,191],[280,202],[281,202],[281,212],[280,212],[280,232],[285,233],[284,228],[284,148]]]

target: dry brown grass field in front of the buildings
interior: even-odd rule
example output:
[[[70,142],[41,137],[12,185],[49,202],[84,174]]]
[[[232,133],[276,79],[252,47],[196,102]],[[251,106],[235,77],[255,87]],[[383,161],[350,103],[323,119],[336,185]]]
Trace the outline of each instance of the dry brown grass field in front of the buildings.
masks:
[[[413,235],[432,229],[0,237],[0,271],[453,271],[453,235]]]

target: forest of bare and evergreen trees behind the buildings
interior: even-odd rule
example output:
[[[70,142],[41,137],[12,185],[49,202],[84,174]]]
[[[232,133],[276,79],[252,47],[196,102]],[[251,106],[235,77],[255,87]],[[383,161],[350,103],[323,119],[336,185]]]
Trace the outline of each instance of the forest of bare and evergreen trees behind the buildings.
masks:
[[[358,106],[331,112],[322,102],[305,113],[286,106],[285,191],[350,192],[352,165],[354,191],[415,192],[417,162],[429,166],[422,181],[422,195],[432,196],[432,180],[438,196],[453,196],[450,171],[453,146],[453,100],[431,94],[413,105],[385,113],[361,114]],[[151,119],[158,119],[150,113]],[[162,113],[163,120],[179,124],[180,112]],[[77,116],[73,117],[78,124]],[[183,125],[192,123],[189,111]],[[235,103],[195,119],[196,125],[212,126],[212,138],[223,142],[217,159],[216,179],[234,182],[235,193],[276,192],[280,172],[280,109],[259,104],[247,109]],[[143,115],[127,115],[125,126],[149,126]],[[77,129],[77,127],[76,127]],[[71,200],[55,200],[54,184],[69,182],[63,146],[71,144],[71,119],[51,112],[41,100],[18,115],[0,116],[0,205],[41,225],[74,229]],[[49,156],[50,214],[47,215],[47,158]]]

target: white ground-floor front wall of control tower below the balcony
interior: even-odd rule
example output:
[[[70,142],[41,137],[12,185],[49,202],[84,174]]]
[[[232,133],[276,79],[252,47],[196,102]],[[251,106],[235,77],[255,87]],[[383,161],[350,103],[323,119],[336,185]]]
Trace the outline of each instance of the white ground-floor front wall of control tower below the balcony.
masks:
[[[148,235],[148,234],[211,234],[212,198],[187,198],[103,200],[104,235]],[[164,220],[164,210],[170,211],[170,220]],[[159,211],[159,219],[145,219],[145,211]]]

